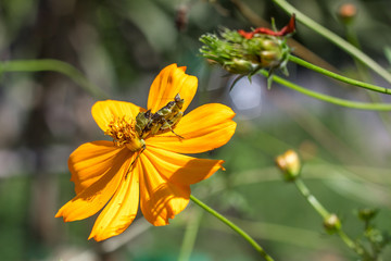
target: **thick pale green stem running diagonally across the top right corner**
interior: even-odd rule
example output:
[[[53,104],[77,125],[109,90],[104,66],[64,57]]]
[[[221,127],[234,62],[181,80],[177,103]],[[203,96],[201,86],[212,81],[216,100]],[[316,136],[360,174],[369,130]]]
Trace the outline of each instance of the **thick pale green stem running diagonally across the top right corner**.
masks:
[[[384,70],[382,66],[380,66],[377,62],[375,62],[371,58],[369,58],[367,54],[355,48],[353,45],[349,44],[331,30],[323,27],[308,16],[301,13],[299,10],[293,8],[291,4],[289,4],[285,0],[273,0],[276,4],[278,4],[281,9],[283,9],[287,13],[292,14],[294,13],[297,16],[297,20],[307,27],[312,28],[319,35],[324,36],[325,38],[329,39],[331,42],[340,47],[342,50],[350,53],[352,57],[355,57],[357,60],[362,61],[364,64],[366,64],[368,67],[370,67],[375,73],[379,74],[381,77],[383,77],[387,82],[391,84],[391,74]]]

